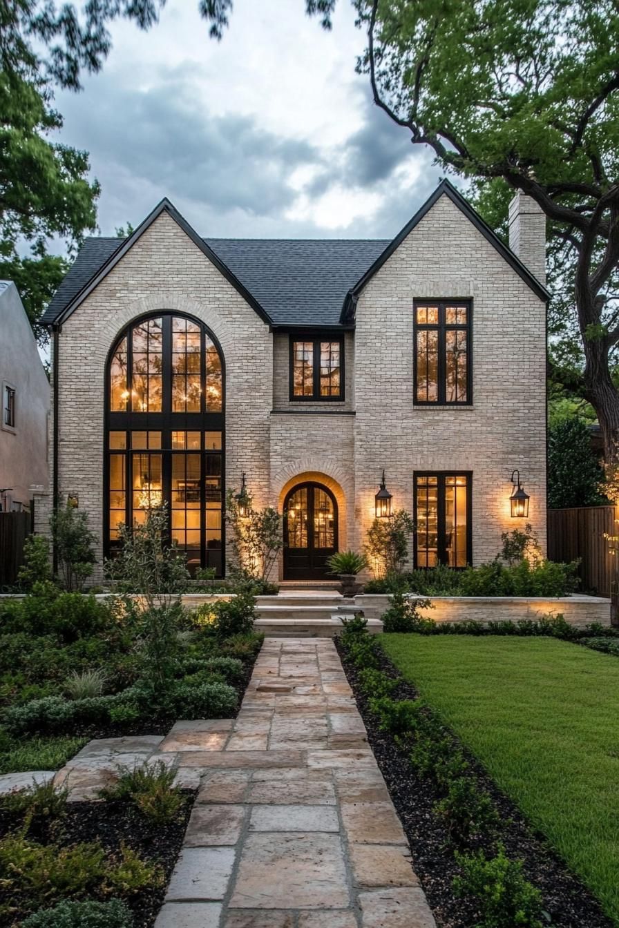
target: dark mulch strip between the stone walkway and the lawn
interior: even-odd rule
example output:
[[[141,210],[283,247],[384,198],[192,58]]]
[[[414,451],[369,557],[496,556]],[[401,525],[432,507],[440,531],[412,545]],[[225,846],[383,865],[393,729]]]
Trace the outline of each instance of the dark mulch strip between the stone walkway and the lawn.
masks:
[[[445,825],[432,811],[436,801],[432,783],[418,777],[406,754],[395,745],[393,736],[380,731],[375,717],[369,712],[368,698],[358,685],[355,664],[348,660],[337,639],[336,647],[368,729],[369,744],[406,831],[413,867],[434,918],[441,928],[471,928],[477,922],[477,912],[470,900],[458,899],[452,891],[458,866],[447,846]],[[380,651],[379,657],[380,669],[389,677],[399,677],[384,652]],[[406,682],[393,693],[393,699],[415,699],[418,696],[417,690]],[[484,767],[465,748],[462,751],[480,788],[490,795],[496,806],[502,823],[498,837],[505,845],[507,856],[523,861],[527,879],[542,893],[544,909],[553,928],[613,928],[613,922],[604,915],[599,902],[548,847],[544,837],[532,831],[517,806],[501,793]],[[476,847],[492,853],[492,843],[488,840],[481,841]]]

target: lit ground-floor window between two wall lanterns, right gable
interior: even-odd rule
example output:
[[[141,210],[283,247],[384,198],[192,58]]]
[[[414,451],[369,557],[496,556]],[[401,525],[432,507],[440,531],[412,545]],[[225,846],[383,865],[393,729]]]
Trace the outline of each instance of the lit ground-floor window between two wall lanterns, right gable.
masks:
[[[416,473],[415,566],[471,563],[471,472]]]

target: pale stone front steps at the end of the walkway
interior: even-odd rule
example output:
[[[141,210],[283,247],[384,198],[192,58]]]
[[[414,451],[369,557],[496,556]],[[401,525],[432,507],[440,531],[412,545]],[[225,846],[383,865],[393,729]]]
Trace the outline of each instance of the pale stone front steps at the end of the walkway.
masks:
[[[342,616],[358,612],[354,599],[325,590],[280,590],[278,596],[256,598],[256,631],[275,638],[333,638],[342,631]],[[369,632],[380,632],[378,619],[368,622]]]

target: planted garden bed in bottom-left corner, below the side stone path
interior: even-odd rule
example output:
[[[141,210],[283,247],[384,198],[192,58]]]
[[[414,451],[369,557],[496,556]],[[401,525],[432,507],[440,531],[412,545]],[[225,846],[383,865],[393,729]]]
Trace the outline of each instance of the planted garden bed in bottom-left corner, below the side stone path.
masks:
[[[0,798],[0,923],[150,928],[194,799],[172,778],[132,771],[101,802],[51,785]]]

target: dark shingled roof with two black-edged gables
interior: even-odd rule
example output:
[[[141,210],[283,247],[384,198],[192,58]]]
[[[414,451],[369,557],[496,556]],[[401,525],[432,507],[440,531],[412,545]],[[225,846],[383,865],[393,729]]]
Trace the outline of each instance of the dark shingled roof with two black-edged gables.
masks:
[[[200,238],[169,200],[129,238],[86,238],[42,321],[61,324],[163,212],[274,328],[353,326],[359,294],[393,251],[445,195],[542,300],[548,291],[484,223],[449,181],[443,181],[392,241],[386,239]]]

